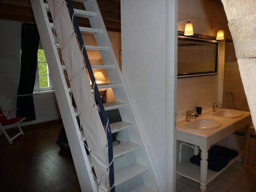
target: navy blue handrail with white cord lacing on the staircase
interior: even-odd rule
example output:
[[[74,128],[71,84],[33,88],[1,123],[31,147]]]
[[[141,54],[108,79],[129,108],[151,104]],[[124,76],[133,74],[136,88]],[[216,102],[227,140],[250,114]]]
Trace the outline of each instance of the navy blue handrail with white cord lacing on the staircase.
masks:
[[[93,89],[94,89],[94,93],[95,93],[97,101],[98,101],[98,106],[99,106],[99,109],[100,109],[100,112],[101,112],[101,115],[103,118],[103,124],[106,126],[106,136],[108,138],[108,147],[109,147],[108,155],[109,155],[109,166],[110,166],[110,170],[109,170],[109,172],[110,172],[110,189],[111,189],[110,191],[114,192],[115,191],[114,161],[113,161],[114,156],[113,156],[112,133],[111,133],[111,128],[110,128],[110,124],[109,124],[109,119],[106,116],[106,112],[105,112],[102,100],[100,98],[100,95],[99,95],[99,90],[98,90],[98,86],[96,83],[96,79],[94,77],[91,63],[90,63],[85,45],[83,43],[82,35],[81,35],[80,29],[79,29],[79,26],[77,23],[77,19],[76,19],[75,13],[74,13],[73,5],[71,3],[71,0],[66,0],[66,2],[67,2],[67,7],[69,8],[69,11],[70,11],[72,23],[75,27],[77,38],[79,40],[80,49],[82,50],[84,60],[86,61],[88,73],[90,75],[92,84],[94,85]]]

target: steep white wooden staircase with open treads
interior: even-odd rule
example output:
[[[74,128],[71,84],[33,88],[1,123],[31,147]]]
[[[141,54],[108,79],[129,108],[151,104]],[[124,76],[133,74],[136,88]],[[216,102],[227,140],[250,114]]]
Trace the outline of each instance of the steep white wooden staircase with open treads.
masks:
[[[63,0],[54,1],[65,2]],[[65,6],[68,6],[68,10],[71,13],[71,18],[69,19],[72,20],[74,27],[77,27],[75,31],[78,41],[80,40],[80,33],[89,33],[94,35],[94,38],[97,42],[97,46],[81,46],[82,49],[80,50],[84,52],[83,55],[85,60],[87,61],[88,59],[86,58],[87,50],[100,52],[102,58],[103,65],[98,64],[91,66],[90,61],[86,62],[87,71],[89,72],[89,74],[92,72],[92,74],[90,74],[90,80],[92,81],[92,84],[94,84],[95,81],[92,69],[105,70],[109,79],[108,83],[101,83],[97,84],[96,86],[91,85],[92,88],[90,89],[94,90],[95,96],[97,98],[99,98],[98,89],[112,89],[115,96],[115,102],[103,104],[99,102],[98,105],[95,106],[97,111],[101,112],[101,115],[103,116],[103,124],[105,126],[104,128],[102,127],[102,131],[104,131],[104,129],[106,130],[106,133],[105,131],[99,133],[99,138],[97,138],[98,142],[102,142],[102,144],[104,144],[104,141],[102,141],[102,139],[100,138],[106,137],[106,135],[108,136],[108,155],[106,155],[105,157],[105,159],[108,159],[110,165],[110,184],[108,186],[108,190],[111,189],[111,191],[133,192],[158,191],[156,178],[153,173],[150,159],[147,156],[147,149],[145,148],[145,143],[137,127],[136,118],[133,115],[133,108],[130,105],[130,99],[127,94],[127,89],[125,87],[122,74],[119,70],[119,66],[108,33],[105,29],[97,2],[96,0],[84,1],[84,10],[73,9],[72,5],[70,4],[71,1],[69,0],[65,2]],[[90,130],[85,129],[86,125],[82,126],[81,128],[80,123],[78,123],[76,119],[76,117],[79,116],[80,121],[86,121],[86,117],[82,117],[80,115],[80,112],[78,112],[80,106],[78,101],[79,98],[83,97],[83,95],[76,96],[76,91],[74,91],[73,94],[70,93],[73,91],[74,88],[72,86],[71,89],[68,87],[66,79],[69,79],[70,77],[67,77],[66,70],[72,68],[73,63],[71,66],[68,66],[68,64],[65,66],[63,65],[62,57],[59,56],[59,49],[61,47],[60,45],[63,42],[61,42],[60,37],[55,37],[56,34],[53,30],[55,26],[52,23],[51,19],[49,21],[49,17],[47,14],[47,12],[53,10],[53,7],[49,8],[50,5],[48,6],[48,4],[45,4],[43,0],[31,0],[31,5],[36,19],[36,24],[40,34],[42,46],[44,47],[46,53],[50,76],[53,81],[55,95],[58,101],[63,124],[65,125],[65,131],[68,136],[81,190],[106,191],[100,186],[102,184],[98,182],[98,180],[101,178],[100,170],[103,169],[96,167],[96,164],[91,161],[91,155],[86,154],[86,148],[89,147],[92,151],[94,151],[94,145],[92,142],[92,144],[84,146],[84,141],[87,140],[88,143],[91,142],[91,138],[87,139],[88,135],[90,135],[88,133],[90,132]],[[73,12],[75,15],[75,19],[72,17]],[[54,13],[52,13],[52,15],[53,14]],[[91,28],[76,26],[76,17],[88,18],[90,20]],[[60,26],[61,24],[58,25]],[[56,29],[56,32],[58,34],[57,30],[58,29]],[[58,39],[58,42],[56,42],[56,38]],[[79,43],[79,45],[81,45],[81,42]],[[69,71],[68,74],[70,74]],[[87,86],[87,84],[88,86],[90,86],[88,82],[84,82],[85,87]],[[91,91],[90,93],[84,93],[85,94],[83,102],[89,102],[88,100],[86,100],[86,94],[92,95]],[[73,106],[74,101],[72,103],[72,95],[74,95],[74,100],[78,108],[74,108]],[[97,100],[99,101],[99,99]],[[104,119],[104,113],[105,111],[114,109],[119,110],[122,121],[108,124],[108,118]],[[96,119],[99,119],[98,113],[97,115],[95,115],[95,117],[96,116]],[[87,119],[87,122],[88,121],[90,121],[90,119]],[[108,128],[110,130],[108,130]],[[120,141],[120,143],[113,146],[113,152],[111,132],[112,134],[117,133],[117,140]],[[112,155],[114,158],[114,163],[112,163]],[[113,164],[114,176],[111,175],[113,170],[111,165]],[[102,174],[104,173],[102,172]],[[115,187],[112,187],[113,182],[115,182]]]

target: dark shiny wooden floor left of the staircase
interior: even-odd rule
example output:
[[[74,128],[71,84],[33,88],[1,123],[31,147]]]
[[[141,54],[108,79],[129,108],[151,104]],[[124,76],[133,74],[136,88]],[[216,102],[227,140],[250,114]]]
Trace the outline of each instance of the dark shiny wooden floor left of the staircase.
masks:
[[[56,144],[60,122],[0,137],[0,191],[81,191],[68,146]]]

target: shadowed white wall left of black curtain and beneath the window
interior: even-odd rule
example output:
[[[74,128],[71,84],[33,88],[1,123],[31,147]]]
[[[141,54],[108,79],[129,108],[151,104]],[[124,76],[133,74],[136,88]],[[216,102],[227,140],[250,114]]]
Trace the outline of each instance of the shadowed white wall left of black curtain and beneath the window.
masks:
[[[0,106],[3,110],[15,109],[20,74],[22,23],[0,20],[0,25],[5,26],[0,30]],[[54,93],[34,95],[34,106],[36,120],[23,124],[60,118]]]

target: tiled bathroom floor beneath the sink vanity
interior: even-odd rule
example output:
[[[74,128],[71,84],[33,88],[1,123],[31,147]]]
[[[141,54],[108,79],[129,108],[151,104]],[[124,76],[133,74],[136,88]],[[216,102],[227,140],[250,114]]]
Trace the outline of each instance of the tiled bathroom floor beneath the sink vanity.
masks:
[[[176,191],[200,192],[199,183],[176,175]],[[234,163],[209,183],[207,192],[256,192],[256,167]]]

